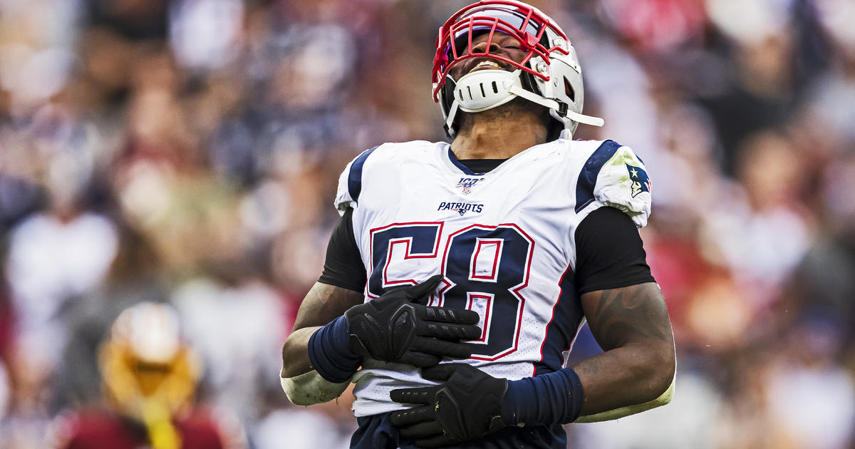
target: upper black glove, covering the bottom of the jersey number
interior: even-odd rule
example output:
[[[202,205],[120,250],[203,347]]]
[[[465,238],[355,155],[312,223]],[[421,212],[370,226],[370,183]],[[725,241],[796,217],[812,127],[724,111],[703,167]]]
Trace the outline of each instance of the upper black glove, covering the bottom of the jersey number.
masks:
[[[428,307],[431,292],[442,275],[421,284],[398,288],[345,312],[351,346],[363,356],[387,362],[410,363],[423,368],[442,357],[468,358],[469,345],[460,340],[481,337],[475,326],[479,316],[472,310]]]

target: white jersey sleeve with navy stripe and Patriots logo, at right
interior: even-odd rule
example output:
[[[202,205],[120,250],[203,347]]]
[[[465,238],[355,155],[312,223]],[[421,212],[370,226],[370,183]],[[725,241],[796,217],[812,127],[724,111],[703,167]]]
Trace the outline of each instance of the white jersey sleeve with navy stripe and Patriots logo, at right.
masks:
[[[576,212],[596,202],[622,211],[635,226],[644,227],[651,212],[651,190],[651,180],[640,157],[628,146],[606,140],[579,175]]]

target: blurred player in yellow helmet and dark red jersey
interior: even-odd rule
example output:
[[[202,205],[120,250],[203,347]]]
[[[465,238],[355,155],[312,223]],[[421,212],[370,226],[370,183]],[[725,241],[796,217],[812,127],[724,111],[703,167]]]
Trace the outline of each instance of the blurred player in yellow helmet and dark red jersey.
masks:
[[[202,365],[180,336],[174,310],[139,303],[123,311],[98,352],[108,409],[63,412],[47,445],[56,448],[239,449],[236,419],[194,405]]]

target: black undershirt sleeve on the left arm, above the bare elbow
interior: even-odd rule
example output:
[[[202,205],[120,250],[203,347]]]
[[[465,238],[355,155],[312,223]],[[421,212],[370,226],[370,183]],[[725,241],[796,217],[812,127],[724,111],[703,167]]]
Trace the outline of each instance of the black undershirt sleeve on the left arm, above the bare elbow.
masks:
[[[353,209],[347,208],[329,239],[327,261],[323,264],[323,273],[318,282],[363,292],[365,281],[363,258],[359,255],[357,239],[353,236]]]

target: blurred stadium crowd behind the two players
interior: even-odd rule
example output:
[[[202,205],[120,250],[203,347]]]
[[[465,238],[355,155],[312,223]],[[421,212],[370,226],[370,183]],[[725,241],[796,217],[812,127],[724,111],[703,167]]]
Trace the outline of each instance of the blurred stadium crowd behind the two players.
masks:
[[[99,347],[144,301],[250,447],[346,447],[348,394],[290,405],[280,346],[345,164],[445,139],[433,45],[467,3],[0,0],[0,448],[106,406]],[[670,405],[570,446],[855,447],[855,2],[532,3],[605,119],[576,137],[646,162],[677,341]]]

